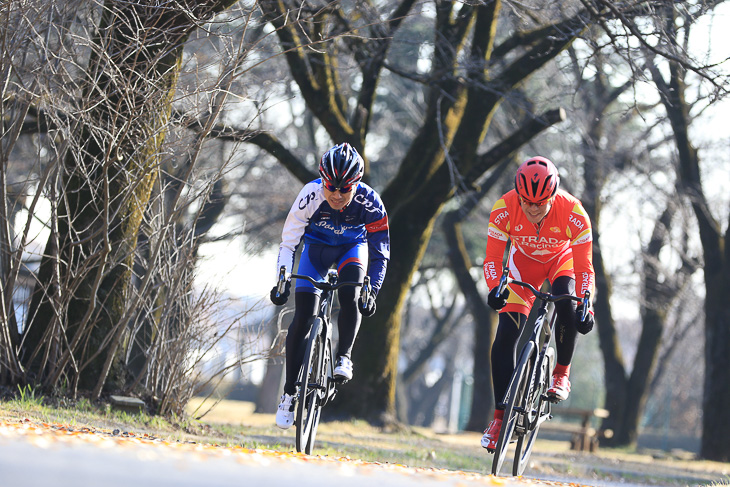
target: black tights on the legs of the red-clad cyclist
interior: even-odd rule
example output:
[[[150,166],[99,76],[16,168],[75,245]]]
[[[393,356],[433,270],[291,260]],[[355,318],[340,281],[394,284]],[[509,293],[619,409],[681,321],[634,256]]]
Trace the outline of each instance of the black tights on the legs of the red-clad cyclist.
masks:
[[[552,286],[553,294],[575,294],[575,280],[568,276],[555,279]],[[575,351],[576,328],[575,301],[558,301],[555,310],[558,315],[555,330],[555,348],[558,353],[558,363],[569,365]],[[527,316],[521,313],[500,313],[497,325],[497,334],[492,344],[492,383],[494,384],[494,401],[497,409],[509,387],[509,380],[517,361],[517,340],[520,330],[527,321]]]

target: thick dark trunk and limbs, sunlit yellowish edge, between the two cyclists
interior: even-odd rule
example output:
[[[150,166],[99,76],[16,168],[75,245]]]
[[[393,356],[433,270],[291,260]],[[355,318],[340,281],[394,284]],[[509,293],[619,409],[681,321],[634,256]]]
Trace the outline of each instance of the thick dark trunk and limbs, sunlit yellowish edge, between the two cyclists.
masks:
[[[303,45],[304,39],[320,42],[323,19],[329,11],[318,11],[311,18],[294,18],[288,12],[298,10],[296,2],[266,0],[259,5],[267,20],[276,27],[292,76],[308,108],[333,141],[351,142],[364,154],[367,120],[373,110],[373,95],[382,68],[378,63],[384,61],[391,39],[415,2],[402,2],[391,13],[382,26],[389,35],[378,30],[372,39],[365,37],[358,43],[348,44],[360,63],[364,86],[356,113],[349,119],[343,114],[346,104],[339,98],[345,90],[338,85],[336,57],[329,50],[309,50]],[[333,8],[339,6],[333,5]],[[342,396],[332,405],[341,408],[344,414],[376,421],[395,419],[401,310],[436,217],[457,187],[473,184],[530,136],[555,123],[536,121],[539,129],[527,130],[530,136],[515,136],[497,144],[486,156],[477,154],[492,117],[505,97],[570,45],[589,20],[584,13],[579,13],[546,27],[540,36],[516,36],[515,43],[510,46],[524,49],[506,60],[506,64],[500,66],[499,74],[490,78],[488,66],[496,61],[491,60],[491,56],[500,8],[499,1],[463,5],[458,10],[451,2],[437,6],[432,81],[423,125],[409,146],[398,173],[381,193],[391,224],[392,254],[378,296],[378,312],[372,319],[365,320],[355,343],[353,359],[358,375],[353,382],[356,385],[343,387]],[[471,44],[466,48],[472,33]],[[334,45],[333,49],[336,48]],[[372,52],[378,53],[377,56],[373,58]],[[465,57],[468,58],[466,77],[462,69]],[[375,66],[370,64],[371,59]],[[303,165],[292,163],[292,157],[285,150],[272,154],[287,167],[298,168],[297,174],[306,174],[301,171]]]

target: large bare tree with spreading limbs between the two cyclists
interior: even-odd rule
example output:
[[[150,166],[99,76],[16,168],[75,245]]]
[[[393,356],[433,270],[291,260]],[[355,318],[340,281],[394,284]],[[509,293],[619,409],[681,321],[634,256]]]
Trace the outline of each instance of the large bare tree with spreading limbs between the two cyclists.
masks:
[[[403,27],[421,20],[422,5],[417,2],[354,2],[349,14],[338,3],[263,1],[259,5],[276,28],[308,110],[330,140],[350,142],[367,154],[365,140],[377,114],[380,78],[396,75],[424,85],[423,119],[406,141],[397,171],[381,193],[393,223],[393,245],[379,311],[372,324],[362,329],[354,351],[362,371],[357,387],[348,388],[339,401],[349,414],[390,421],[395,418],[401,308],[436,217],[459,188],[469,187],[550,125],[550,115],[534,115],[490,150],[480,147],[494,113],[511,90],[569,45],[589,16],[549,11],[553,22],[525,20],[525,29],[495,47],[500,2],[439,2],[429,27],[430,69],[418,72],[387,62]],[[352,15],[353,11],[358,15]],[[352,66],[358,76],[341,66]],[[356,85],[344,85],[348,80]],[[272,135],[251,142],[270,150],[301,181],[315,177]]]

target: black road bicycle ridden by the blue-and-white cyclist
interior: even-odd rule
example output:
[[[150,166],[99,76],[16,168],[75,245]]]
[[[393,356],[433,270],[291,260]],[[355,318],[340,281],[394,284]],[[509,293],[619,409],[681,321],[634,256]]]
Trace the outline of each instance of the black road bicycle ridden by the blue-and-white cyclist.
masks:
[[[286,285],[286,269],[279,270],[278,293],[284,292]],[[296,449],[299,453],[312,453],[314,439],[317,435],[320,413],[322,408],[337,394],[337,386],[347,382],[335,378],[334,362],[332,360],[332,304],[333,293],[343,286],[360,287],[360,296],[363,303],[371,292],[370,278],[365,277],[360,282],[337,282],[337,271],[330,270],[325,281],[317,281],[309,276],[292,274],[292,279],[305,279],[314,287],[322,290],[319,301],[319,311],[310,320],[309,338],[304,351],[304,360],[299,369],[296,386],[298,392],[296,416]]]

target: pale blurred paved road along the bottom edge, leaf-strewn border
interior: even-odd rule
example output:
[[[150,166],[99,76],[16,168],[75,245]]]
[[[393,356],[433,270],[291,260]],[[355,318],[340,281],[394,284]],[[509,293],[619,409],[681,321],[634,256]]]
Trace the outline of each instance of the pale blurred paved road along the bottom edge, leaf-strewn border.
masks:
[[[573,485],[0,420],[0,487]]]

